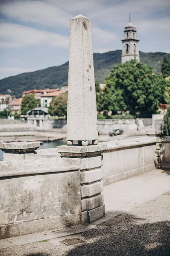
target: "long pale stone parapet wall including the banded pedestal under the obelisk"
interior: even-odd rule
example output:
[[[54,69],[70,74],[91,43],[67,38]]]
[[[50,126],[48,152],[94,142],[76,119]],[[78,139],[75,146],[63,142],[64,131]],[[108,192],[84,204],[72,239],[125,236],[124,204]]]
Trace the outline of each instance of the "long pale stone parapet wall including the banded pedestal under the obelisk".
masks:
[[[169,142],[163,140],[161,145],[164,168],[170,166]],[[102,184],[154,170],[156,143],[156,137],[145,137],[60,146],[31,151],[23,158],[7,151],[0,163],[0,238],[101,218],[105,214]],[[21,144],[11,143],[15,150]],[[29,147],[34,149],[33,144]]]

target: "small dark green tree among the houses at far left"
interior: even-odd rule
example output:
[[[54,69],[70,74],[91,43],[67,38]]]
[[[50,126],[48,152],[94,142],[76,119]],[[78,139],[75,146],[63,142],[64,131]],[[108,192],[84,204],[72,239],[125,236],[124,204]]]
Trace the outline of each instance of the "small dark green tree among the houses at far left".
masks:
[[[40,106],[40,100],[35,99],[34,93],[25,95],[21,103],[21,114],[26,115],[29,110],[36,108],[37,105]]]

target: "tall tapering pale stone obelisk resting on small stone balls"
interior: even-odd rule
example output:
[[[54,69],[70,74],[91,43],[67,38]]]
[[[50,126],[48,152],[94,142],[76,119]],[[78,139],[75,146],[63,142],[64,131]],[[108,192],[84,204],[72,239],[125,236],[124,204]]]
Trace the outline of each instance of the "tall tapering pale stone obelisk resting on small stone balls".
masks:
[[[83,15],[71,19],[68,71],[67,140],[87,146],[98,143],[91,22]]]

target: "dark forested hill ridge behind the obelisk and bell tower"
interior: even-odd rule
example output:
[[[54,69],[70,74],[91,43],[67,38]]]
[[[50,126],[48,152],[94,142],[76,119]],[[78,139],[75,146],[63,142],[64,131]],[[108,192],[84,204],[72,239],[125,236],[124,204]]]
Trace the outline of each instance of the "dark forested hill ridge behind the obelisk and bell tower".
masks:
[[[166,52],[140,52],[140,61],[153,67],[153,73],[161,73],[161,61],[170,54]],[[103,83],[113,65],[121,63],[121,50],[94,53],[95,80]],[[25,90],[62,87],[68,84],[68,62],[58,67],[48,67],[44,70],[23,73],[0,80],[0,93],[10,89],[17,98]]]

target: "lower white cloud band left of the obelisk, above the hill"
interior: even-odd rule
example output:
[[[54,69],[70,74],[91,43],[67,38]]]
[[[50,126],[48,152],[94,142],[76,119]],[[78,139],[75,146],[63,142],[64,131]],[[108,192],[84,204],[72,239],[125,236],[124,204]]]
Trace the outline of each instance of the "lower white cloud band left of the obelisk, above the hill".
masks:
[[[33,45],[68,48],[69,38],[28,26],[1,23],[0,47],[26,47]]]

